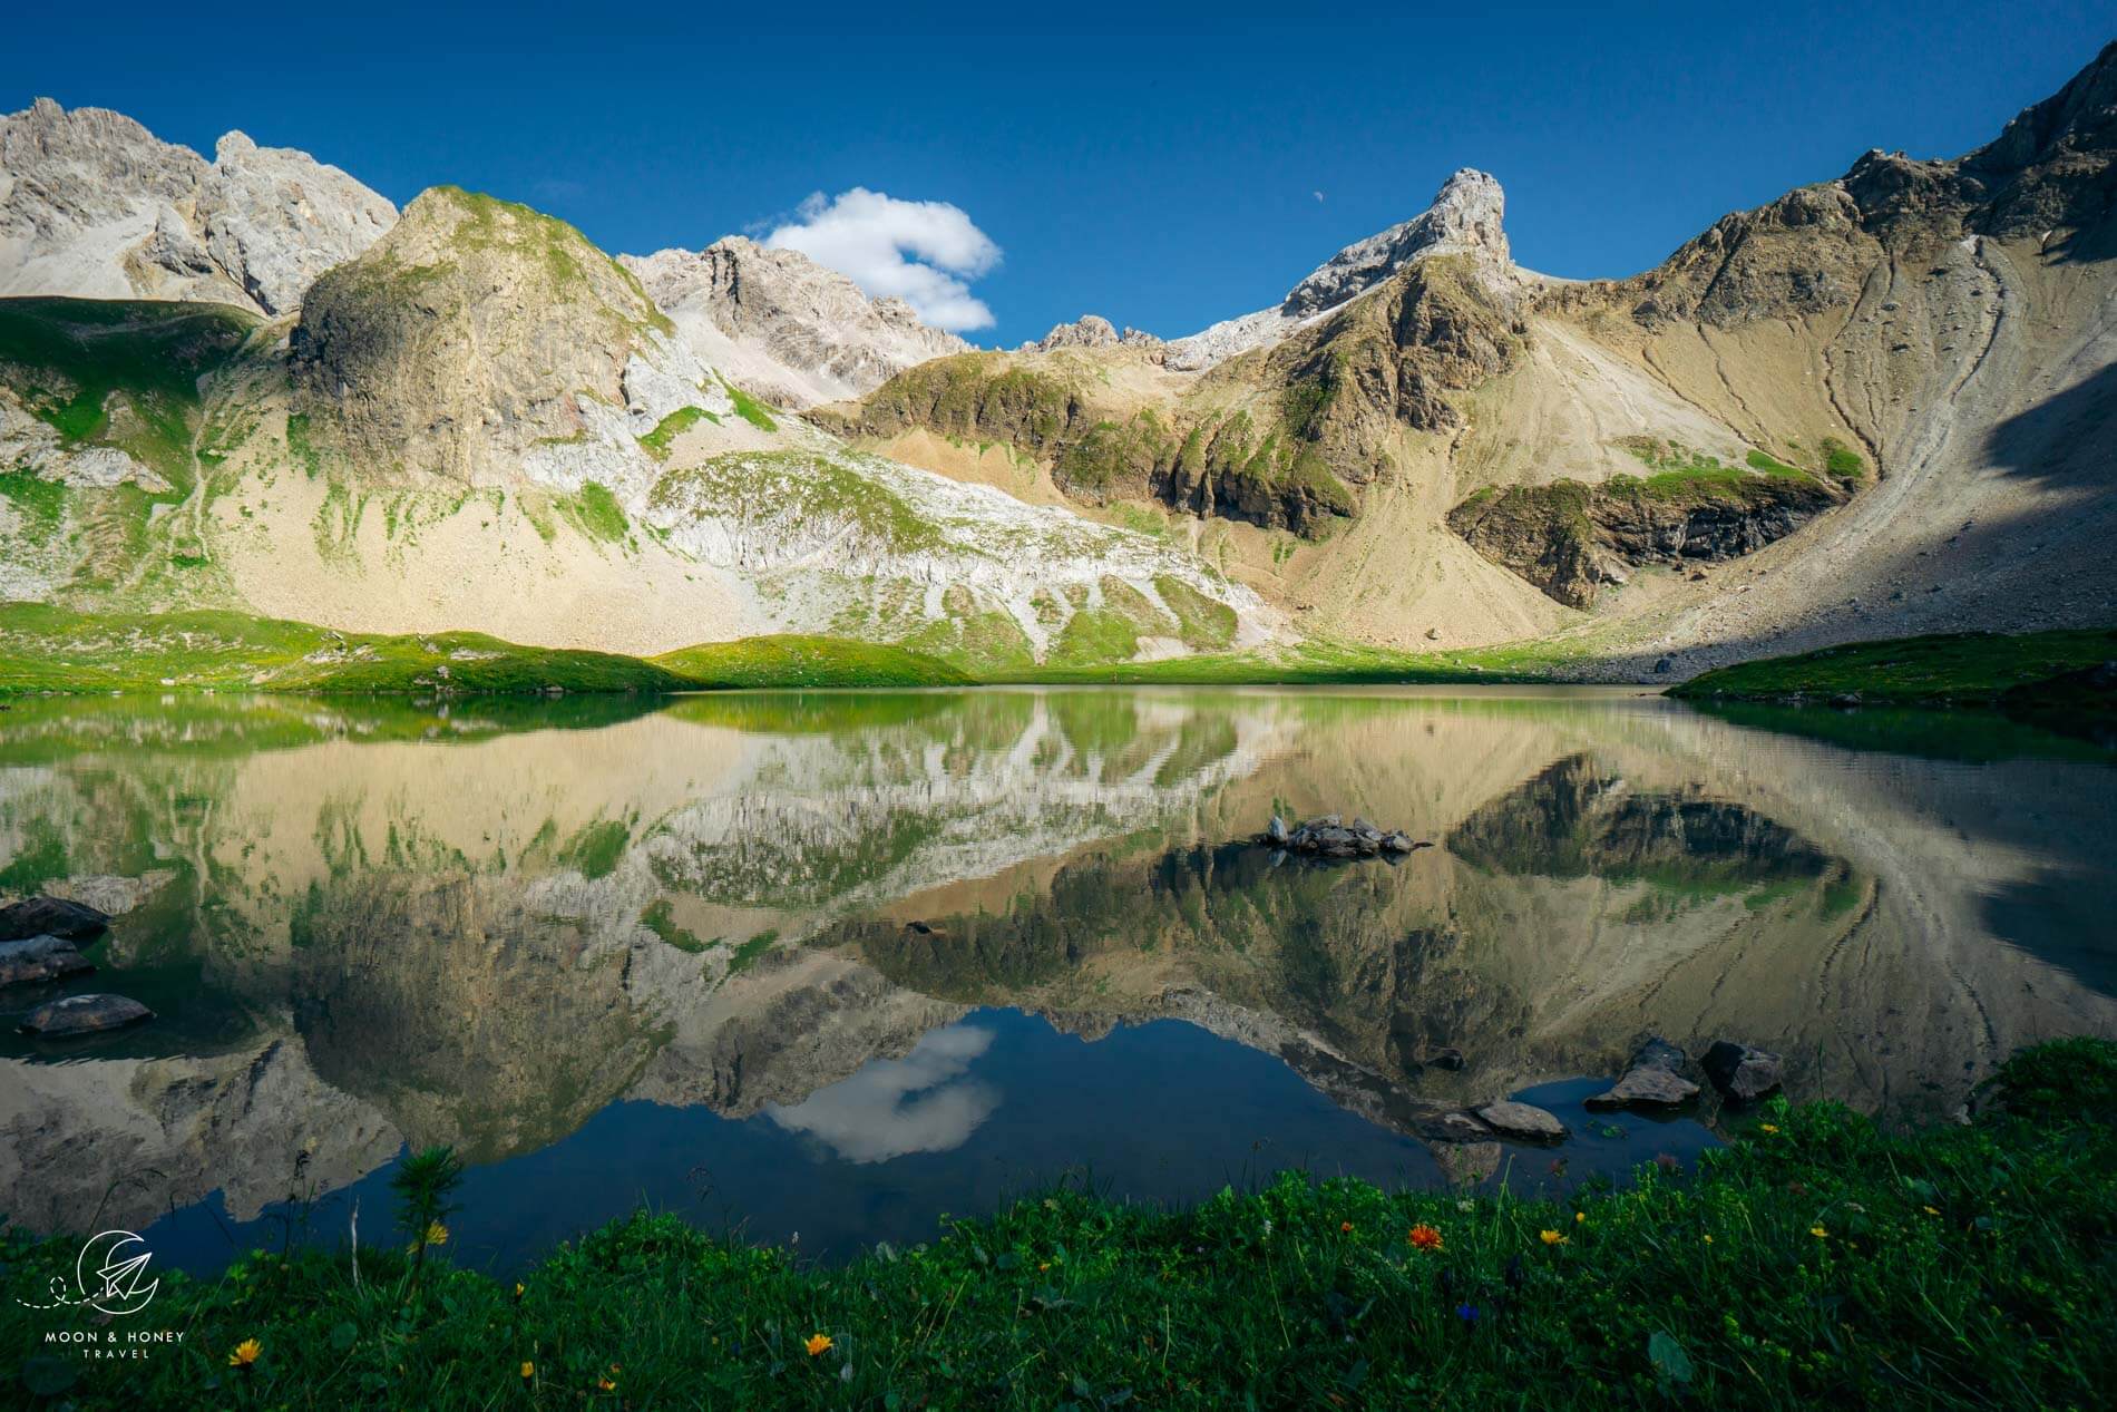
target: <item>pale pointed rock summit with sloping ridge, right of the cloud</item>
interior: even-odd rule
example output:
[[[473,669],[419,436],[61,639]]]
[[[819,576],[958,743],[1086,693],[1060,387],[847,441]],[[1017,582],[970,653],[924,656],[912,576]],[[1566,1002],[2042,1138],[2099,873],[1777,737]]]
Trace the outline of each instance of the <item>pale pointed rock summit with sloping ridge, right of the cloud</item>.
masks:
[[[1268,347],[1304,322],[1359,298],[1429,256],[1469,256],[1480,279],[1503,288],[1514,269],[1507,235],[1501,229],[1505,207],[1499,182],[1465,167],[1442,184],[1425,212],[1346,246],[1287,290],[1277,307],[1213,324],[1188,339],[1173,339],[1166,362],[1171,368],[1198,370],[1253,347]]]

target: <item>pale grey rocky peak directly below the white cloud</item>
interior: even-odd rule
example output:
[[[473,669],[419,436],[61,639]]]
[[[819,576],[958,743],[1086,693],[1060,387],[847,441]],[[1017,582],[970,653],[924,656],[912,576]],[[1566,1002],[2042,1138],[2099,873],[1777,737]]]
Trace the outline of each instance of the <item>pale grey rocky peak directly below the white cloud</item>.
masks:
[[[741,235],[620,263],[692,354],[779,406],[862,396],[929,358],[970,351],[902,298],[868,298],[807,254]]]

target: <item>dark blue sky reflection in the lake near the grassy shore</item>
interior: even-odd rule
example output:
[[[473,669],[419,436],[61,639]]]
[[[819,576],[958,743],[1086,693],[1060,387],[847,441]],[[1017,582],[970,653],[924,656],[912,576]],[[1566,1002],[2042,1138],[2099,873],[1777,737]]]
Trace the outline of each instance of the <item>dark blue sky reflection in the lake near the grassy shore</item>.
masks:
[[[1509,1185],[1622,1177],[1660,1152],[1689,1166],[1713,1143],[1696,1122],[1586,1114],[1579,1101],[1603,1086],[1522,1094],[1556,1111],[1575,1139],[1564,1149],[1509,1145]],[[1550,1171],[1556,1156],[1567,1158],[1562,1175]],[[252,1247],[343,1245],[358,1200],[364,1247],[400,1241],[392,1166],[252,1221],[227,1219],[216,1192],[142,1236],[157,1260],[212,1274]],[[792,1243],[802,1260],[845,1260],[879,1241],[931,1241],[944,1215],[984,1215],[1061,1181],[1186,1202],[1287,1169],[1387,1188],[1444,1181],[1418,1141],[1340,1109],[1277,1056],[1194,1025],[1156,1020],[1086,1042],[1033,1014],[978,1010],[794,1107],[722,1118],[620,1101],[540,1152],[472,1166],[449,1251],[506,1274],[648,1207],[752,1243]]]

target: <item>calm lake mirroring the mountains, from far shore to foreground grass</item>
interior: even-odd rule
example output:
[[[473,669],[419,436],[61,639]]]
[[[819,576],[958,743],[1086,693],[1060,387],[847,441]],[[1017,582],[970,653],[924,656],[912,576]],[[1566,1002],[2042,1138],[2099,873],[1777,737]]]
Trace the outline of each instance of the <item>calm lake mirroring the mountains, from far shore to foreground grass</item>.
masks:
[[[390,1238],[453,1143],[451,1251],[510,1268],[641,1200],[843,1257],[1061,1179],[1567,1188],[1717,1141],[1581,1109],[1647,1033],[1933,1118],[2117,1033],[2113,785],[1996,722],[1590,690],[19,701],[0,895],[123,912],[0,991],[0,1211],[212,1270]],[[1274,809],[1433,847],[1274,859]],[[68,991],[157,1018],[15,1033]],[[1423,1139],[1507,1094],[1575,1137]]]

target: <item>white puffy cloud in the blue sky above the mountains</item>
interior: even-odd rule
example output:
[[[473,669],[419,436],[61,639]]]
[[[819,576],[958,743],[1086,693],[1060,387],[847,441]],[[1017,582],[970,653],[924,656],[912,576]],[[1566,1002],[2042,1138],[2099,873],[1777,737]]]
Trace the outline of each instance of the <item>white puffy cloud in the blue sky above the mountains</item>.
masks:
[[[999,265],[999,246],[946,201],[898,201],[866,186],[836,197],[819,191],[800,203],[800,220],[777,227],[764,243],[800,250],[870,298],[893,294],[936,328],[993,326],[993,311],[967,282]]]

